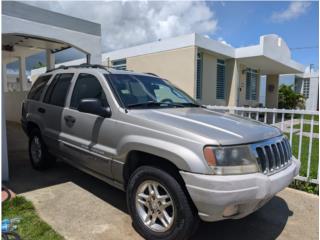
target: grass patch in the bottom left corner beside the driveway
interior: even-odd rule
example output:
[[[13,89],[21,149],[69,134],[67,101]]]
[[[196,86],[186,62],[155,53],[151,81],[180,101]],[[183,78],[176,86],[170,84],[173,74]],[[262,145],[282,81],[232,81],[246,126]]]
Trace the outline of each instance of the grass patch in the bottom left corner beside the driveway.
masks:
[[[61,240],[63,239],[47,223],[42,221],[30,201],[17,196],[2,204],[2,219],[20,217],[17,233],[23,240]]]

